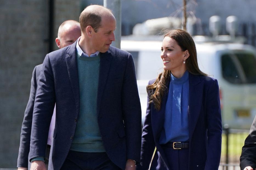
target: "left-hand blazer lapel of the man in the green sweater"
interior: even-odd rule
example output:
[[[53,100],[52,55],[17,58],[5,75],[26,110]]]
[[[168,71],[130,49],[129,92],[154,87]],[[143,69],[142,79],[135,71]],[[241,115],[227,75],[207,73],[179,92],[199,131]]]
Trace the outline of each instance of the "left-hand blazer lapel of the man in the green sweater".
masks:
[[[71,83],[72,91],[74,94],[76,111],[79,113],[79,81],[78,81],[78,68],[77,68],[77,52],[76,52],[76,44],[73,43],[68,49],[66,54],[66,64],[67,64],[67,71],[69,74],[69,80]]]

